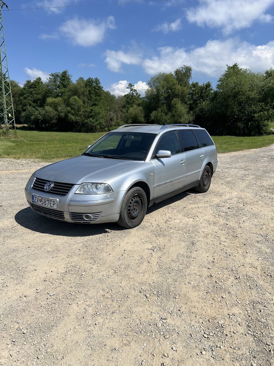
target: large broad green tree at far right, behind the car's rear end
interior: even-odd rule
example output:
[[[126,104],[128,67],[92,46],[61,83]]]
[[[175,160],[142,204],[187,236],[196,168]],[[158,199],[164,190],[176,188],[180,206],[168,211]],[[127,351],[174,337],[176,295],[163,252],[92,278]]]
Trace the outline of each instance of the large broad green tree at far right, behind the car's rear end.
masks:
[[[238,64],[227,66],[218,80],[212,104],[213,125],[218,134],[254,136],[267,132],[273,110],[263,102],[264,82],[261,73],[242,69]]]

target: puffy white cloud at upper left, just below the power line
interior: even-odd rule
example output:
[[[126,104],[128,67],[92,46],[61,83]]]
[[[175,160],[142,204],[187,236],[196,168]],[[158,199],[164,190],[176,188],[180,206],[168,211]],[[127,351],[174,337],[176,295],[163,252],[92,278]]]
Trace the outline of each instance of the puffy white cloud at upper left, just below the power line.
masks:
[[[89,47],[102,42],[107,29],[115,28],[114,17],[111,15],[101,23],[75,17],[67,20],[59,29],[72,44]]]

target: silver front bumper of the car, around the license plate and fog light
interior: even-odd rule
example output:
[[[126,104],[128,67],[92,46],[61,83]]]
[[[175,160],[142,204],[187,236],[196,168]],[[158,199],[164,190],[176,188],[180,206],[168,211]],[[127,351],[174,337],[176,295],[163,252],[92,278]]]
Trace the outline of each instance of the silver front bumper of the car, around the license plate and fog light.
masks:
[[[75,185],[66,196],[57,196],[33,190],[30,184],[25,188],[25,195],[31,209],[43,216],[71,223],[109,223],[119,219],[122,200],[125,191],[106,194],[75,194]],[[56,199],[58,209],[47,208],[32,202],[32,195],[41,198]],[[89,216],[87,216],[89,215]],[[87,220],[87,217],[90,218]]]

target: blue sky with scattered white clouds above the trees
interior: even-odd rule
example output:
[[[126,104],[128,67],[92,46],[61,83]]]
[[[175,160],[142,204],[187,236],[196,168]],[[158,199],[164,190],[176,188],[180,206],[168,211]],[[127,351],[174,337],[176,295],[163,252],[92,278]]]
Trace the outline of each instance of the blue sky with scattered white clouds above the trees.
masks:
[[[125,0],[129,1],[130,0]],[[144,95],[157,72],[193,68],[216,84],[226,64],[274,67],[274,0],[167,0],[153,3],[4,11],[10,78],[21,85],[68,69],[98,77],[115,95],[128,82]],[[116,3],[119,0],[8,2],[10,9]],[[122,2],[120,0],[120,2]]]

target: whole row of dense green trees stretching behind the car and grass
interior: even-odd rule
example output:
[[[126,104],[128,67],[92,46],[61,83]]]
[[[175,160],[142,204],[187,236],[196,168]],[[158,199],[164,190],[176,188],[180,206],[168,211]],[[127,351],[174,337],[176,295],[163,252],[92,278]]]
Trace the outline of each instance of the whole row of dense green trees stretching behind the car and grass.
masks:
[[[227,66],[216,89],[191,81],[191,67],[160,72],[148,81],[145,98],[128,84],[115,97],[98,78],[72,82],[68,70],[47,82],[11,81],[15,121],[43,131],[102,132],[130,123],[193,123],[212,135],[252,136],[269,133],[274,120],[274,70],[254,73]]]

